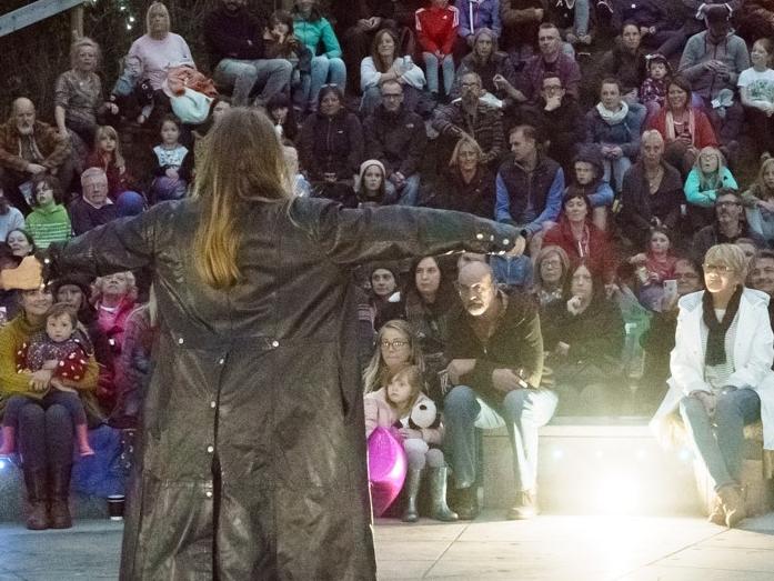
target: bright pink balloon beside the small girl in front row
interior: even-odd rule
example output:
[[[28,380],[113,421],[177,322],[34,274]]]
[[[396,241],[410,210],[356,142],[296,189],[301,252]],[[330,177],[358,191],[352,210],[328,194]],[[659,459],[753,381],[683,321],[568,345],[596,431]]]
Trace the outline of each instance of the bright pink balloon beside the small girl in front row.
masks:
[[[376,428],[369,437],[369,482],[374,515],[381,517],[401,493],[408,465],[401,437],[391,429]]]

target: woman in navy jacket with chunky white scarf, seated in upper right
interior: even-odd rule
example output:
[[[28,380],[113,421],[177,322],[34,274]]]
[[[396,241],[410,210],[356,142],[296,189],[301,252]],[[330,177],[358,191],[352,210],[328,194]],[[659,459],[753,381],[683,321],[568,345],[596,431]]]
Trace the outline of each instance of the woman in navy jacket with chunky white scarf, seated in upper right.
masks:
[[[604,179],[623,188],[623,178],[640,151],[640,127],[645,108],[622,99],[621,83],[604,79],[600,87],[600,102],[586,113],[586,143],[596,144],[602,154]]]

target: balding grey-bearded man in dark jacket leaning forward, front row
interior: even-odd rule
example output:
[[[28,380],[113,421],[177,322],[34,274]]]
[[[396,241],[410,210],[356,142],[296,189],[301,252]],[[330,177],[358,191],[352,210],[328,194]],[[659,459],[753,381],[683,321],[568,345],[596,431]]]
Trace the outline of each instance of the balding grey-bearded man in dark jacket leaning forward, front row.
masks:
[[[446,448],[461,519],[479,512],[474,487],[475,429],[507,427],[513,450],[515,499],[509,519],[537,513],[537,428],[556,409],[556,394],[540,388],[543,338],[534,303],[497,290],[484,262],[470,262],[456,282],[463,309],[449,322],[446,371],[453,385],[444,400]]]

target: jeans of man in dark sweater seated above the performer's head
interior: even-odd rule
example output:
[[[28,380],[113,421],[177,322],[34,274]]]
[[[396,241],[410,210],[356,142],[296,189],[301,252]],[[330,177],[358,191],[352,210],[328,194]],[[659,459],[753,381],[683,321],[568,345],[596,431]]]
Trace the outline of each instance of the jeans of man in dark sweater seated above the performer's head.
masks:
[[[233,87],[235,106],[249,104],[254,87],[263,88],[258,100],[265,104],[270,98],[288,88],[292,71],[293,66],[284,59],[222,59],[213,77],[217,82]]]

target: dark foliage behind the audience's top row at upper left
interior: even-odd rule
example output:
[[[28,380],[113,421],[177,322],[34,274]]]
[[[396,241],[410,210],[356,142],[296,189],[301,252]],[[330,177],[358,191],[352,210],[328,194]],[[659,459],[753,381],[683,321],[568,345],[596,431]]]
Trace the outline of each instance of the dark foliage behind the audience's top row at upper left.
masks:
[[[172,31],[181,34],[193,51],[200,69],[208,59],[202,43],[201,23],[204,14],[220,0],[165,0]],[[346,1],[346,0],[343,0]],[[0,14],[11,12],[31,0],[1,0]],[[248,0],[248,7],[268,16],[275,8],[289,6],[287,0]],[[321,2],[325,6],[330,2]],[[121,11],[120,6],[127,10]],[[151,0],[96,0],[84,6],[83,33],[102,48],[103,88],[110,91],[118,74],[119,59],[132,41],[144,33],[145,11]],[[128,14],[134,17],[127,30]],[[29,97],[38,106],[41,119],[53,119],[53,86],[57,77],[70,68],[70,14],[63,12],[0,38],[0,121],[10,112],[11,101]]]

